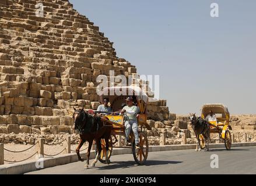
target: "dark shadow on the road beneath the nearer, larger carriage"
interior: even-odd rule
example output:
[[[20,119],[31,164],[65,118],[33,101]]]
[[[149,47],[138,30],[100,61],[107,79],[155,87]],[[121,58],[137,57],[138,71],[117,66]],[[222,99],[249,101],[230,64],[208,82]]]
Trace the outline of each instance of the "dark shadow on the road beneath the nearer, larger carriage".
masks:
[[[177,161],[166,161],[166,160],[147,160],[145,164],[141,166],[153,166],[153,165],[161,165],[161,164],[177,164],[183,162]],[[111,162],[108,166],[99,167],[99,170],[106,170],[106,169],[127,169],[130,167],[139,166],[134,161],[127,161],[127,162]]]

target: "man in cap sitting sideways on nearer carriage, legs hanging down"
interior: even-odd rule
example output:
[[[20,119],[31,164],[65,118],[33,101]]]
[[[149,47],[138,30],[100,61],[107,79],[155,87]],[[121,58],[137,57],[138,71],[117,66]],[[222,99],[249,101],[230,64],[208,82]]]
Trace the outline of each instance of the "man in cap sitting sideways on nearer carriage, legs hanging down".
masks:
[[[121,115],[124,113],[127,113],[128,120],[125,121],[125,135],[127,138],[127,142],[129,142],[129,134],[132,131],[134,132],[135,136],[135,145],[136,148],[139,148],[139,133],[138,133],[138,121],[137,121],[137,112],[138,108],[134,105],[133,99],[131,96],[129,96],[127,99],[125,99],[127,102],[127,106],[124,106],[124,108],[121,111]]]

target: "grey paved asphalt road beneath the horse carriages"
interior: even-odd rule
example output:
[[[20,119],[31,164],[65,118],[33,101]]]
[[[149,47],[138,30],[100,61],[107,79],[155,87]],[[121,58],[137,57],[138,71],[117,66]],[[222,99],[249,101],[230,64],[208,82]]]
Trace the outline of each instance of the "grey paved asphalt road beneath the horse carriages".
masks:
[[[219,169],[212,169],[211,155],[219,156]],[[92,160],[90,160],[92,163]],[[75,162],[27,174],[256,174],[256,146],[233,148],[232,151],[210,149],[149,152],[143,166],[132,155],[111,157],[111,164],[97,163],[84,170],[85,162]]]

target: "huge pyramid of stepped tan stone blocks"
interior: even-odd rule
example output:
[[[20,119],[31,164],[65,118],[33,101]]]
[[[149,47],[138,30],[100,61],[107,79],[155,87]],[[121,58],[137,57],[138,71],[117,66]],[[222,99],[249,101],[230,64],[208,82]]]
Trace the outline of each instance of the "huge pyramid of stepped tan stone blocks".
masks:
[[[97,76],[138,78],[99,27],[67,0],[0,0],[0,133],[72,133],[73,106],[96,109]],[[148,82],[139,80],[140,85]],[[146,90],[149,94],[150,91]],[[168,120],[165,100],[149,119]]]

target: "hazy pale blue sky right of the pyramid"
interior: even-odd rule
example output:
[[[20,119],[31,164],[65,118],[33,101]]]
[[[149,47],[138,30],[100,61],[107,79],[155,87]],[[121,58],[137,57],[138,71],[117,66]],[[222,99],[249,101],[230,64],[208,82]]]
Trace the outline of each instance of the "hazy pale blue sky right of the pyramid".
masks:
[[[256,113],[255,0],[70,0],[139,74],[160,75],[170,112],[224,103]],[[211,3],[219,17],[211,17]]]

